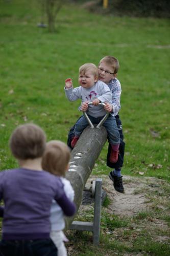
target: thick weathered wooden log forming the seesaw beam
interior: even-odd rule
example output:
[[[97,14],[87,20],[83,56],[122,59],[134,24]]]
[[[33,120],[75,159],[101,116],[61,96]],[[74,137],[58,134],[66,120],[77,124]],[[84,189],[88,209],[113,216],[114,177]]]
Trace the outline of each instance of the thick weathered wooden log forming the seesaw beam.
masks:
[[[71,152],[70,167],[66,179],[70,181],[75,190],[74,202],[77,211],[81,204],[83,188],[106,140],[107,131],[104,126],[100,129],[91,129],[90,126],[87,126]],[[65,218],[65,230],[69,228],[74,217]]]

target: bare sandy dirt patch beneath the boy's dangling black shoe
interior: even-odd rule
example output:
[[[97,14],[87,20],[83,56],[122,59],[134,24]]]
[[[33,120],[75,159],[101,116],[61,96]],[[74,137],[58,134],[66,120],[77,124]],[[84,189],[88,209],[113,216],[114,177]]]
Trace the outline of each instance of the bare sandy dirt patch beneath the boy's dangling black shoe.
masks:
[[[95,180],[96,176],[90,176],[87,181],[87,186],[90,186],[90,182]],[[149,194],[153,194],[157,191],[158,197],[161,198],[163,193],[162,185],[165,185],[165,181],[148,177],[137,178],[131,176],[123,177],[123,184],[125,193],[118,193],[113,188],[113,182],[107,175],[102,175],[102,187],[107,192],[107,196],[110,199],[110,204],[106,208],[110,214],[133,216],[140,211],[150,210],[153,203],[148,198]],[[166,186],[169,186],[166,183]],[[160,200],[162,201],[162,200]],[[163,207],[158,205],[158,207]]]

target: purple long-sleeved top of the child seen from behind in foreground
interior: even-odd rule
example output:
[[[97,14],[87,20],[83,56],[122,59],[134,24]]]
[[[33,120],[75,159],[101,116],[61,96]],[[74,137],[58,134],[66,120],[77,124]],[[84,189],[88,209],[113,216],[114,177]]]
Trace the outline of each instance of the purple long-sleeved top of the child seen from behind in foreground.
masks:
[[[6,240],[49,238],[53,199],[65,215],[75,213],[75,204],[67,199],[60,178],[44,170],[17,168],[1,172],[2,199],[5,203],[3,239]]]

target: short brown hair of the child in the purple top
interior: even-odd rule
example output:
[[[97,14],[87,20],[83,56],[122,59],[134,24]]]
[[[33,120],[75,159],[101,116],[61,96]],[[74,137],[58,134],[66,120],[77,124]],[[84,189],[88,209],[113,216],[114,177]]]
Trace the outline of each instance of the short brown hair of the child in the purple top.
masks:
[[[38,125],[23,124],[13,131],[9,144],[13,156],[17,159],[35,159],[42,157],[44,153],[46,136]]]

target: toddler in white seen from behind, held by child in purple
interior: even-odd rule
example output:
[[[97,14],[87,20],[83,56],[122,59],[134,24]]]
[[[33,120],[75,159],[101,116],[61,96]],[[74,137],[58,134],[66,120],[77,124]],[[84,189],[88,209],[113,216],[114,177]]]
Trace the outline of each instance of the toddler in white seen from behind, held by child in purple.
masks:
[[[64,191],[69,200],[74,200],[74,190],[70,182],[65,178],[65,174],[69,168],[70,150],[62,141],[52,140],[46,143],[46,149],[42,158],[42,168],[59,176],[64,185]],[[65,235],[63,229],[65,227],[64,213],[62,208],[53,200],[51,207],[51,239],[58,249],[58,256],[66,256],[67,251],[64,246]]]

